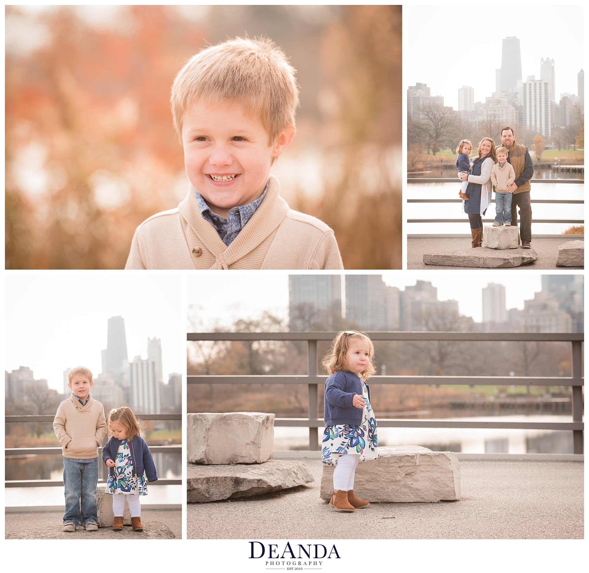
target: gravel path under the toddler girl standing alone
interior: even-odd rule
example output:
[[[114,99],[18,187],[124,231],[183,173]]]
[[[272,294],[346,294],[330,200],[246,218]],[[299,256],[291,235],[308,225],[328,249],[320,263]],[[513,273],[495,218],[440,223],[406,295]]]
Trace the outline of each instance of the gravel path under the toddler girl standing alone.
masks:
[[[322,464],[304,462],[310,487],[188,504],[188,539],[583,539],[580,462],[461,462],[461,501],[371,504],[353,514],[319,498]]]

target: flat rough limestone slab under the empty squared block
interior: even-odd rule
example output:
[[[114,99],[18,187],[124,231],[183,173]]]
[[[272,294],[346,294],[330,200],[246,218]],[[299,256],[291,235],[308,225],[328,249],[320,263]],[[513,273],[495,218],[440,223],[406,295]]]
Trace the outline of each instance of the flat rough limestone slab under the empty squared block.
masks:
[[[267,494],[315,481],[303,462],[287,459],[257,465],[187,466],[188,503]]]

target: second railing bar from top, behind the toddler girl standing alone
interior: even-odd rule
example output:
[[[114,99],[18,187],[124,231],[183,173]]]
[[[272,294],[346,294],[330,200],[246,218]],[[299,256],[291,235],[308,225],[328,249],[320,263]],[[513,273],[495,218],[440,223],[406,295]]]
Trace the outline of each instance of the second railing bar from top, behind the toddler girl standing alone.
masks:
[[[323,384],[326,375],[191,375],[188,384]],[[584,378],[562,376],[373,376],[370,384],[438,384],[469,386],[583,386]]]

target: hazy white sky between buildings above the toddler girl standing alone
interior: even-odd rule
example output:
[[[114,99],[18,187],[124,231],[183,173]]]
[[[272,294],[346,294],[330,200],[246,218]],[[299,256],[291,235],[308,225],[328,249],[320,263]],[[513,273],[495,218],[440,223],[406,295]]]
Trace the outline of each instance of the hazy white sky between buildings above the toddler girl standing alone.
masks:
[[[534,298],[542,289],[541,275],[521,273],[489,274],[470,271],[389,271],[383,274],[386,284],[414,285],[416,280],[431,281],[438,287],[438,299],[456,299],[461,314],[482,320],[481,289],[489,282],[505,286],[507,308],[524,308],[524,300]],[[239,279],[227,281],[219,275],[188,277],[188,305],[194,305],[194,315],[204,328],[214,321],[229,326],[234,317],[252,317],[264,310],[288,316],[289,289],[287,275],[239,274]]]

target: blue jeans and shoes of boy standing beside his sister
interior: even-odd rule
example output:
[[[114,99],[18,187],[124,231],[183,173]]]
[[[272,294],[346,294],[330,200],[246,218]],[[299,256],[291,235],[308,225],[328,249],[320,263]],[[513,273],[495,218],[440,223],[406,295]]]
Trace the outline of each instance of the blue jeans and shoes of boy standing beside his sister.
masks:
[[[80,464],[64,457],[65,515],[64,523],[74,525],[98,523],[96,485],[98,484],[98,458],[89,464]]]

